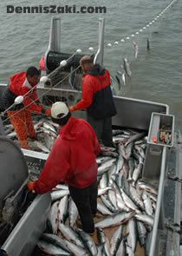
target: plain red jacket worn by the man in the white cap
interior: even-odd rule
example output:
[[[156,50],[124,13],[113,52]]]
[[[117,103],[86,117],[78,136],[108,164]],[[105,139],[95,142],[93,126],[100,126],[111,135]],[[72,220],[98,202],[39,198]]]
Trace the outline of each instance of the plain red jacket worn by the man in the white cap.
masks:
[[[36,194],[44,194],[64,181],[73,187],[88,187],[97,177],[96,155],[101,152],[94,129],[87,121],[70,117],[35,181]]]

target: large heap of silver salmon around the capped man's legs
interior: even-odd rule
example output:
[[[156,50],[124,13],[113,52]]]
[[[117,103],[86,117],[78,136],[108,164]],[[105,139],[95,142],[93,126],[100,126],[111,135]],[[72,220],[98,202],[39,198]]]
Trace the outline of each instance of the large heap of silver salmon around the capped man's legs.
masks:
[[[79,217],[66,184],[51,191],[48,228],[37,246],[50,255],[146,255],[157,190],[142,181],[146,133],[114,129],[115,148],[101,147],[94,236],[76,226]]]

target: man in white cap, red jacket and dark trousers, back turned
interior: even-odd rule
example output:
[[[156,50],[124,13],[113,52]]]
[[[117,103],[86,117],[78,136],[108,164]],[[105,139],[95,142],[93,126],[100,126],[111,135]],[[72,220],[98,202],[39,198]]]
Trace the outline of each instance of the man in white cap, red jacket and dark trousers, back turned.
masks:
[[[59,136],[38,181],[29,181],[28,188],[44,194],[60,181],[68,183],[71,197],[81,217],[82,229],[94,233],[93,217],[97,211],[97,163],[101,152],[91,125],[72,117],[64,102],[55,102],[51,118],[61,126]]]

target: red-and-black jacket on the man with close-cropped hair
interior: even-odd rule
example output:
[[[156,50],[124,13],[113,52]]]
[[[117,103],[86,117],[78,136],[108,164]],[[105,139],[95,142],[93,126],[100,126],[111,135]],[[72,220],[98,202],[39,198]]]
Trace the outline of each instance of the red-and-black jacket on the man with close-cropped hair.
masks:
[[[103,120],[116,114],[107,69],[102,69],[99,64],[95,64],[83,75],[81,87],[82,98],[74,106],[75,110],[87,108],[88,115],[95,120]]]

